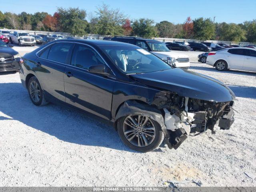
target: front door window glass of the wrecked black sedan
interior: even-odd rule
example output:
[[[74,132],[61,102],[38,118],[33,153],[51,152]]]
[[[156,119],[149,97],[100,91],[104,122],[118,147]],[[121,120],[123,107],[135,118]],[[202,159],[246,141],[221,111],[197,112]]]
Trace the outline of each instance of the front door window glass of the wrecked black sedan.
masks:
[[[92,65],[104,65],[104,62],[92,48],[76,44],[72,54],[71,65],[87,70]]]

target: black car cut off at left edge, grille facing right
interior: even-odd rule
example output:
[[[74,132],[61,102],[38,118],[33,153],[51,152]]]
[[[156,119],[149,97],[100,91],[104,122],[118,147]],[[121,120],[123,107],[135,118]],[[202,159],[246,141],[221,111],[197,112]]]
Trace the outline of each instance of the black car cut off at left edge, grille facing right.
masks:
[[[20,54],[0,40],[0,71],[20,70]]]

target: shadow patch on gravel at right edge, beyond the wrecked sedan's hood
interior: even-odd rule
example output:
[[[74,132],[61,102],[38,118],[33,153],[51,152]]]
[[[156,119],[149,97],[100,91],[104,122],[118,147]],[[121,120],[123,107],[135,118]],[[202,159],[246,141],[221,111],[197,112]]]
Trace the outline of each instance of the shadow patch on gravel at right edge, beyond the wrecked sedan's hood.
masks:
[[[256,99],[256,87],[228,85],[237,97]]]

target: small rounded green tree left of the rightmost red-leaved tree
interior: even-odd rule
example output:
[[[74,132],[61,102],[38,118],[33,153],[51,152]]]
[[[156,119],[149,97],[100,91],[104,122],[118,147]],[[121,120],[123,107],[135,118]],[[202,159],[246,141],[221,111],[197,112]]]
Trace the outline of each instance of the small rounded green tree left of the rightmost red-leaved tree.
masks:
[[[161,21],[156,24],[159,37],[174,37],[174,24],[168,21]]]

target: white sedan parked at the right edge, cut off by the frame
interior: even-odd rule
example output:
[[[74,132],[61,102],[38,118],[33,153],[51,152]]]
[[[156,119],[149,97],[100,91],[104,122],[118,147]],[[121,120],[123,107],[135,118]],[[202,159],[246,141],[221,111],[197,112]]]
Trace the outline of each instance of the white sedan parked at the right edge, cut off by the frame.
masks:
[[[206,64],[219,71],[237,69],[256,72],[256,50],[252,48],[227,48],[210,52]]]

